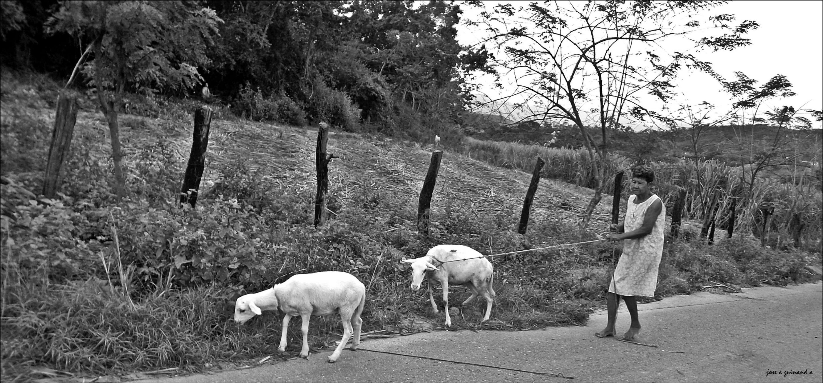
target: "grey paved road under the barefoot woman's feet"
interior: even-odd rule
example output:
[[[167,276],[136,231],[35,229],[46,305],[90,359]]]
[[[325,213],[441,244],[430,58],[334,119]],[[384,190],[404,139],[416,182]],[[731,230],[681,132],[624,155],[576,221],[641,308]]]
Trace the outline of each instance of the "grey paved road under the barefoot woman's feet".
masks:
[[[629,326],[621,308],[619,334]],[[823,381],[820,282],[701,292],[639,310],[644,327],[637,340],[657,348],[594,337],[606,324],[605,312],[598,312],[588,326],[366,339],[361,350],[346,349],[333,364],[325,362],[331,351],[324,351],[309,360],[139,382]]]

